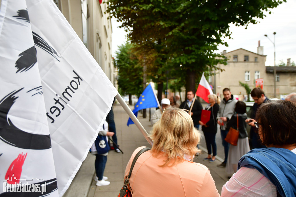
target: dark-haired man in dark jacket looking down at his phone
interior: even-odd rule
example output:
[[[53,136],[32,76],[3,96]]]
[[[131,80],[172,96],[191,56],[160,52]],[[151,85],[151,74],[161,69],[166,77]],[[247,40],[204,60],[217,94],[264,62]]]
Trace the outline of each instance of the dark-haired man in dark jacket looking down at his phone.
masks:
[[[250,130],[250,138],[252,139],[252,148],[266,148],[266,146],[262,145],[261,140],[258,135],[258,129],[255,127],[254,122],[257,109],[260,107],[262,103],[266,103],[267,101],[270,101],[265,96],[263,90],[261,88],[254,88],[251,91],[251,96],[254,99],[254,105],[253,105],[253,114],[251,119],[247,120],[248,122],[252,120],[252,122],[248,123],[251,127]]]

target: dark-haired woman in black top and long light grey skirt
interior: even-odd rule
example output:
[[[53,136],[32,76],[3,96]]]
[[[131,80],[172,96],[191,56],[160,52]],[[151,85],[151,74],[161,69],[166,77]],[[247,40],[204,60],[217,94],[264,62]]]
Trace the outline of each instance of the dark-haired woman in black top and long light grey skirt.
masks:
[[[237,162],[239,159],[250,151],[247,123],[245,122],[245,120],[248,118],[246,114],[246,104],[243,101],[237,101],[235,104],[235,112],[236,114],[232,115],[231,119],[226,125],[227,130],[229,130],[230,127],[237,129],[237,125],[239,125],[239,138],[237,141],[237,146],[229,146],[226,163],[226,172],[231,175],[237,171]]]

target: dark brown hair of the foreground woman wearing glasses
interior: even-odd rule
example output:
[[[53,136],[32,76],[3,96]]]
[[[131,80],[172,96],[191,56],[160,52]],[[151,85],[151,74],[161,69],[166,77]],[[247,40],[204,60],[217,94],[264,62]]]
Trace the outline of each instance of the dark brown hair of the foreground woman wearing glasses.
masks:
[[[262,144],[282,146],[296,143],[295,103],[283,100],[263,103],[257,110],[256,120],[261,124],[259,135],[262,136]]]

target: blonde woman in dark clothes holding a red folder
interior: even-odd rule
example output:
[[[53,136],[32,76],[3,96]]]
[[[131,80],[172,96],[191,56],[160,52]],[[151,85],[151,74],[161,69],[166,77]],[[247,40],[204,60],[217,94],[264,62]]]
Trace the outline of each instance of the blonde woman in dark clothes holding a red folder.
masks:
[[[204,161],[209,161],[213,163],[216,161],[217,146],[216,146],[216,133],[217,133],[217,113],[219,111],[220,98],[215,94],[210,94],[208,96],[209,104],[206,106],[205,110],[202,110],[201,120],[199,121],[202,125],[202,131],[205,135],[205,142],[207,144],[208,156],[203,159]],[[208,121],[207,121],[208,120]],[[202,122],[204,121],[204,122]],[[212,157],[213,148],[213,157]]]

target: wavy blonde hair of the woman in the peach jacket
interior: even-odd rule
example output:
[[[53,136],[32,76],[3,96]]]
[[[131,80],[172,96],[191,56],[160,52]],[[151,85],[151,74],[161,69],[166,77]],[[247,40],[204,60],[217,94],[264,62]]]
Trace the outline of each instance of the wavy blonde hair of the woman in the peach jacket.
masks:
[[[160,120],[153,125],[150,133],[154,141],[151,148],[153,156],[159,155],[161,151],[167,156],[160,167],[183,162],[184,154],[191,156],[193,160],[194,155],[201,152],[196,147],[200,141],[200,133],[194,127],[188,112],[179,108],[167,108]]]

